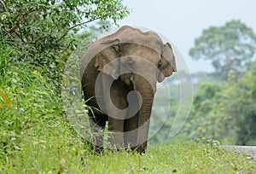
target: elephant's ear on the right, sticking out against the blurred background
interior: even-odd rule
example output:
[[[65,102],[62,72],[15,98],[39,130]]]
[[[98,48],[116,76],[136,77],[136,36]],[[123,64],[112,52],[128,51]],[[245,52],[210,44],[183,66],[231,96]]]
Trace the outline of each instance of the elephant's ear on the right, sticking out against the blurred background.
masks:
[[[158,76],[158,82],[162,82],[166,77],[172,75],[172,72],[177,72],[175,57],[172,52],[172,46],[166,43],[163,48],[161,60],[159,63],[160,74]]]

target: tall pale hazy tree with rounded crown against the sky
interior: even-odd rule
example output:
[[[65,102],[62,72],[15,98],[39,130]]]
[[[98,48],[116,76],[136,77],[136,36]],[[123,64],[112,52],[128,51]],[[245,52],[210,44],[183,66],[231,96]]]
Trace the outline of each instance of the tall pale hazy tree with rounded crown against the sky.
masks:
[[[256,35],[240,20],[231,20],[224,26],[212,26],[195,39],[189,50],[193,59],[210,60],[216,77],[225,80],[230,70],[247,70],[256,50]]]

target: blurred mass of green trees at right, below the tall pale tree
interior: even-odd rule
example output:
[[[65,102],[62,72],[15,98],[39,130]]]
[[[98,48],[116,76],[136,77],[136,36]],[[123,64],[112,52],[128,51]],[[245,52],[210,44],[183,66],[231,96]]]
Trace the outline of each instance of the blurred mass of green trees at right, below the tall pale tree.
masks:
[[[256,62],[244,76],[230,72],[222,84],[202,83],[185,130],[236,145],[256,145]]]

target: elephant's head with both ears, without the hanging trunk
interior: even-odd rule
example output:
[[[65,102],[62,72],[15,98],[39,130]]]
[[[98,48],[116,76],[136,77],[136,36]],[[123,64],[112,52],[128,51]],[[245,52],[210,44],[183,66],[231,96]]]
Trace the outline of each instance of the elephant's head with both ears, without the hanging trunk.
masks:
[[[103,39],[100,44],[106,49],[96,55],[95,67],[133,85],[134,90],[142,84],[143,77],[155,92],[157,81],[162,82],[177,71],[171,44],[163,44],[154,32],[129,30]]]

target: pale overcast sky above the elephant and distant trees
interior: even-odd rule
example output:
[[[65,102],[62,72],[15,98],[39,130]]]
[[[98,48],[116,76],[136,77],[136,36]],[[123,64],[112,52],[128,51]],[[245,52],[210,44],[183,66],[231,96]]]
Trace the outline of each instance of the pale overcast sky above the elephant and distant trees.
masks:
[[[182,53],[191,72],[211,71],[206,61],[191,61],[189,49],[209,26],[241,20],[256,31],[255,0],[124,0],[132,13],[119,24],[143,26],[169,38]]]

